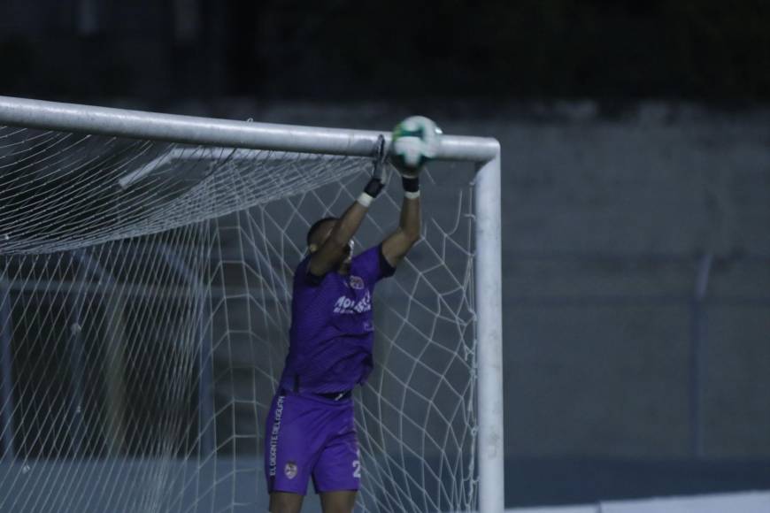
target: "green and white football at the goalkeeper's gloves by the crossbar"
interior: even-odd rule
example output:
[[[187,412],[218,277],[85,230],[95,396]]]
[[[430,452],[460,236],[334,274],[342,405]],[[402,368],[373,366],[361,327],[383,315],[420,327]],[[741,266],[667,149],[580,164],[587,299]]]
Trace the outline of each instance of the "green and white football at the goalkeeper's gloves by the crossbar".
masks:
[[[390,160],[404,176],[417,176],[441,148],[441,128],[432,119],[412,116],[393,129]]]

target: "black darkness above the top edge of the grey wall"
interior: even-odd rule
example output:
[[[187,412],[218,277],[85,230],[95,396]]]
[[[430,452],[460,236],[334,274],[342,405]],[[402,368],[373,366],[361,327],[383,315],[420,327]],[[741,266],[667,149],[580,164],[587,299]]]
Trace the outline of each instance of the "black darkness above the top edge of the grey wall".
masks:
[[[770,100],[764,0],[6,4],[19,96]]]

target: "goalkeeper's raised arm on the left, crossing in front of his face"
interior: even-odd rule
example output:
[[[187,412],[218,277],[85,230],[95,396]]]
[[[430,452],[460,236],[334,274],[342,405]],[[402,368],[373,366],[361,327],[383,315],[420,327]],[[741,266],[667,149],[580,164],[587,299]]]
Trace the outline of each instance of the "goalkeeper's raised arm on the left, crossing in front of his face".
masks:
[[[382,182],[379,178],[373,178],[366,184],[364,192],[358,196],[358,199],[348,207],[343,216],[335,222],[335,226],[329,233],[326,241],[320,245],[320,248],[313,252],[310,258],[308,270],[315,276],[323,276],[327,272],[335,269],[345,257],[347,257],[348,244],[353,235],[361,226],[361,221],[369,210],[374,198],[382,190]]]

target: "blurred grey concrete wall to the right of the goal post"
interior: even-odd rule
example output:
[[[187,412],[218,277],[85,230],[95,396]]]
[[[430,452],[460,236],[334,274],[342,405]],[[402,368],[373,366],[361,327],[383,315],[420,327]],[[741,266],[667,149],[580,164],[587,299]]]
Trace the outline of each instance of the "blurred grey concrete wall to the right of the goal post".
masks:
[[[505,131],[513,454],[684,456],[699,436],[705,456],[770,456],[768,127],[713,116]]]

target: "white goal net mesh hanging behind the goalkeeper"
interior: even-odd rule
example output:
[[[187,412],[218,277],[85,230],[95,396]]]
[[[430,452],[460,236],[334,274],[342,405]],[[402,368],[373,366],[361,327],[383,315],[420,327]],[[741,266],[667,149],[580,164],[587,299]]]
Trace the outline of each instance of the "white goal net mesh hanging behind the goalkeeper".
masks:
[[[266,510],[292,272],[371,166],[0,128],[0,510]],[[476,506],[473,172],[451,167],[375,293],[362,511]],[[395,228],[399,189],[358,248]]]

